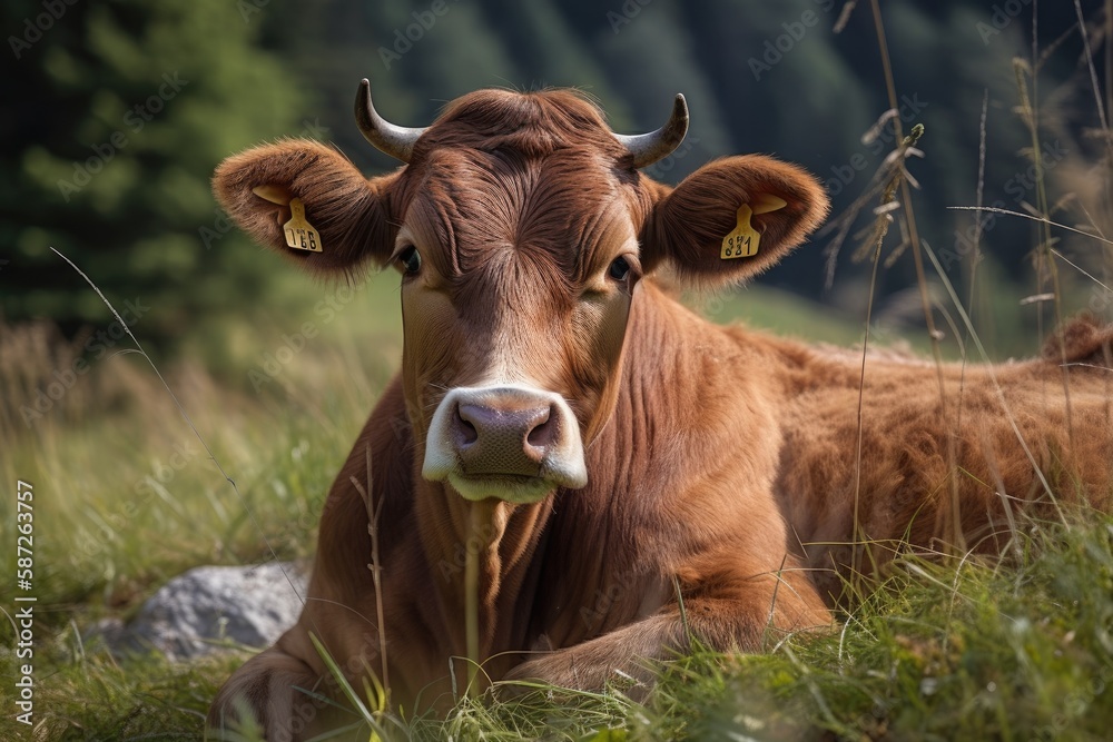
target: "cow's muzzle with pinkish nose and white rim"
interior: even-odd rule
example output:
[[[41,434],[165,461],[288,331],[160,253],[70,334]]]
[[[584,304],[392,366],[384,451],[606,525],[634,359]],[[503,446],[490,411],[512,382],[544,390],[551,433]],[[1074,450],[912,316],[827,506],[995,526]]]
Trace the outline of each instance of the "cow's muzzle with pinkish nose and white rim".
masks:
[[[430,424],[422,476],[465,499],[531,503],[588,483],[580,426],[563,397],[528,386],[457,387]]]

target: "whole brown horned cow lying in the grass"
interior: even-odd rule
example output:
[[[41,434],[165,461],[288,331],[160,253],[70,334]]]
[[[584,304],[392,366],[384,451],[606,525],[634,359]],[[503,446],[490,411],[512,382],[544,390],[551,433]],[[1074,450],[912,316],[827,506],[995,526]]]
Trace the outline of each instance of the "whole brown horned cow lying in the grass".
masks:
[[[827,211],[769,157],[676,188],[639,174],[683,137],[681,97],[638,137],[563,90],[475,92],[414,130],[364,81],[357,117],[407,166],[367,180],[288,140],[215,178],[246,231],[311,271],[396,266],[404,352],[328,495],[301,621],[224,685],[210,726],[249,711],[285,740],[355,721],[321,700],[338,694],[311,632],[356,689],[388,674],[395,703],[443,708],[469,548],[485,675],[599,687],[690,635],[746,651],[829,626],[837,571],[886,558],[855,540],[993,551],[1031,503],[1109,505],[1107,327],[995,368],[871,356],[859,428],[860,355],[716,326],[662,288],[747,279]],[[292,208],[312,228],[284,235]]]

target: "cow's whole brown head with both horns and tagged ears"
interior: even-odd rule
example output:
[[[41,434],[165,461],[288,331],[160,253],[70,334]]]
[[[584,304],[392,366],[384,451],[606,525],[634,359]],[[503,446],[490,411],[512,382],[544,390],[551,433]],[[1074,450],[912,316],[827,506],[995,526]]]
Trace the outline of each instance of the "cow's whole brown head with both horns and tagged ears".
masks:
[[[256,240],[314,273],[398,270],[415,464],[469,499],[584,486],[639,281],[664,268],[700,286],[745,279],[827,209],[812,178],[768,157],[717,160],[674,189],[639,174],[682,140],[680,96],[664,127],[631,137],[567,90],[483,90],[406,129],[375,112],[365,80],[356,117],[406,166],[367,180],[289,140],[229,158],[215,189]],[[292,206],[319,251],[288,247]]]

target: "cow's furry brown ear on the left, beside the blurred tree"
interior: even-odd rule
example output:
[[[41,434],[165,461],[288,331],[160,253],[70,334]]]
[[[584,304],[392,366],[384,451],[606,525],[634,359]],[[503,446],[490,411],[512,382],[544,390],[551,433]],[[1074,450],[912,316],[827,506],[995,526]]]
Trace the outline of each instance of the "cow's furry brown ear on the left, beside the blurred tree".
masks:
[[[336,150],[292,139],[226,159],[213,176],[213,192],[255,241],[307,270],[328,275],[352,271],[368,261],[383,265],[390,258],[394,235],[385,190],[396,177],[367,180]],[[305,222],[317,233],[317,239],[306,240],[309,249],[287,244],[284,227],[299,216],[297,211],[304,211]],[[299,244],[305,235],[290,237]]]

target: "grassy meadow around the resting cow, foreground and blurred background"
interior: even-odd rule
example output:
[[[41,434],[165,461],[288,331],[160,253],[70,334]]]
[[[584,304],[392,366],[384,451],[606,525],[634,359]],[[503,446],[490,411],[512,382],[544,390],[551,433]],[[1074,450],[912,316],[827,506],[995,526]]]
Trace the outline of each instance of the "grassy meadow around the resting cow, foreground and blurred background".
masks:
[[[1026,85],[1022,73],[1017,79]],[[1033,110],[1020,110],[1033,131],[1030,158],[1040,151]],[[920,146],[929,152],[927,136]],[[1110,140],[1107,129],[1102,136]],[[1024,205],[1037,219],[1032,245],[1017,258],[1036,266],[1031,285],[1018,291],[996,283],[1002,266],[978,263],[975,249],[964,256],[956,288],[946,270],[933,270],[929,247],[917,243],[903,169],[907,146],[896,149],[846,222],[860,225],[856,217],[865,217],[863,233],[846,233],[874,265],[873,279],[855,286],[860,314],[844,315],[760,281],[719,297],[690,297],[693,308],[716,321],[748,321],[847,347],[860,348],[868,327],[870,344],[907,344],[925,357],[981,363],[1038,353],[1034,313],[1045,333],[1056,317],[1113,294],[1095,277],[1113,266],[1110,243],[1101,237],[1109,234],[1107,162],[1105,185],[1096,190],[1073,166],[1056,170],[1054,188],[1037,179],[1033,204]],[[1099,208],[1087,210],[1093,198]],[[903,209],[896,221],[887,216],[892,210],[871,212],[894,199]],[[1083,208],[1072,211],[1072,204]],[[1075,235],[1068,249],[1060,243],[1061,227],[1052,237],[1052,217],[1091,236]],[[894,224],[900,239],[886,245],[900,245],[883,256]],[[923,296],[935,310],[934,333],[875,311],[883,257],[908,246],[930,275],[922,273],[908,289],[914,309],[892,314],[915,315]],[[804,249],[820,259],[817,247]],[[1064,254],[1080,253],[1091,258],[1090,274],[1064,263]],[[268,295],[280,295],[280,304],[235,317],[198,316],[175,353],[151,350],[154,365],[107,310],[93,329],[106,332],[99,343],[89,335],[63,338],[48,321],[0,326],[6,546],[16,543],[21,523],[17,483],[31,483],[35,493],[33,586],[21,592],[0,581],[0,607],[11,619],[18,596],[37,597],[35,725],[29,730],[9,713],[14,696],[6,682],[0,739],[198,739],[217,687],[257,651],[229,645],[213,659],[181,664],[157,653],[114,657],[96,626],[135,615],[160,585],[196,565],[313,555],[332,478],[398,366],[401,317],[392,270],[354,287],[316,285],[289,273]],[[964,287],[968,294],[958,297]],[[82,296],[97,300],[92,289]],[[976,323],[959,305],[969,314],[977,309]],[[141,343],[141,319],[134,329]],[[989,348],[985,355],[982,346]],[[14,554],[7,558],[14,562]],[[829,634],[770,635],[760,654],[697,647],[656,666],[658,681],[644,699],[634,700],[621,682],[602,693],[538,686],[515,700],[462,694],[447,718],[435,719],[387,711],[370,694],[363,698],[366,721],[372,739],[382,740],[1110,739],[1109,514],[1077,505],[1052,522],[1018,518],[998,558],[907,554],[871,584],[853,587],[856,600]],[[17,677],[24,662],[14,642],[0,646],[4,679]]]

